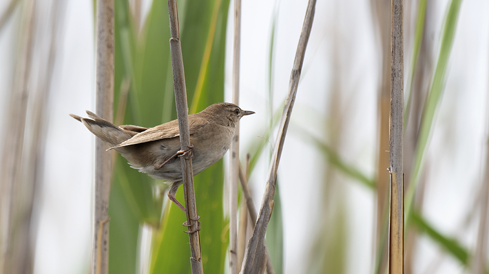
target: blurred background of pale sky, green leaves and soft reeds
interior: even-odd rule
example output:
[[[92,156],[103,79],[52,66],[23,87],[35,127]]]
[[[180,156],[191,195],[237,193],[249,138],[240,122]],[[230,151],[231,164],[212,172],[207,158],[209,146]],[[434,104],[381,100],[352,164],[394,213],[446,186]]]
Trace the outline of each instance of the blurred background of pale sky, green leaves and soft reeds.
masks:
[[[256,208],[306,5],[242,3],[240,107],[256,114],[240,155]],[[191,113],[231,101],[233,8],[178,1]],[[0,266],[14,273],[89,273],[95,137],[68,114],[95,109],[94,11],[0,1]],[[390,12],[388,0],[317,2],[267,231],[276,273],[385,273]],[[115,0],[117,125],[176,118],[167,13]],[[406,273],[487,272],[488,53],[488,1],[404,2]],[[228,163],[196,176],[206,273],[228,271]],[[124,159],[114,166],[110,272],[190,273],[184,215]]]

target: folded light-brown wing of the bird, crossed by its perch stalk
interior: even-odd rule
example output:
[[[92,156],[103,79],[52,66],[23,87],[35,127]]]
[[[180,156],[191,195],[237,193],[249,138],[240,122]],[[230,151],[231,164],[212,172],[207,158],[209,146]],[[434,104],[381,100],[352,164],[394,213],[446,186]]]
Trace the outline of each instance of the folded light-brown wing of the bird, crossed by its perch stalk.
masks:
[[[207,120],[191,119],[191,116],[189,116],[190,135],[195,134],[201,127],[205,126],[206,124],[208,124]],[[122,146],[146,143],[146,142],[151,142],[151,141],[156,141],[161,139],[168,139],[168,138],[173,138],[178,136],[180,136],[178,131],[178,120],[173,120],[168,123],[153,128],[149,128],[141,133],[138,133],[134,135],[132,138],[128,139],[127,141],[122,142],[114,147],[111,147],[110,149],[118,148]]]

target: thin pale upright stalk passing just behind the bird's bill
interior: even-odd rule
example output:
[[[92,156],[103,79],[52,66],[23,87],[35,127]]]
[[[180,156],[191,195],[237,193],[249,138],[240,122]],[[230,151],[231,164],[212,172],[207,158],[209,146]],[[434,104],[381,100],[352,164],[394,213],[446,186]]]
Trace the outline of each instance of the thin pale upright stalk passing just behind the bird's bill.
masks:
[[[234,0],[233,104],[240,98],[241,0]],[[231,141],[229,164],[229,273],[237,274],[238,264],[238,176],[240,166],[240,123]]]

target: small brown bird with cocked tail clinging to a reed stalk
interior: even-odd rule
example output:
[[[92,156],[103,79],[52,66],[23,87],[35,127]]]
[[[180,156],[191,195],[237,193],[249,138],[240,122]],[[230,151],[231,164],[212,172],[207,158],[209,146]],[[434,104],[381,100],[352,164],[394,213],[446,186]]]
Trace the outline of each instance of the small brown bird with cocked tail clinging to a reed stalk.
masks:
[[[236,123],[245,115],[235,104],[216,103],[203,111],[188,116],[190,143],[193,145],[192,168],[194,175],[199,174],[219,159],[229,149],[234,136]],[[87,111],[91,118],[82,118],[70,114],[82,122],[91,133],[111,145],[126,158],[132,168],[146,173],[155,179],[172,184],[168,197],[185,212],[185,208],[175,198],[178,186],[182,184],[178,120],[145,128],[133,125],[115,126],[111,122]],[[109,150],[110,150],[109,149]]]

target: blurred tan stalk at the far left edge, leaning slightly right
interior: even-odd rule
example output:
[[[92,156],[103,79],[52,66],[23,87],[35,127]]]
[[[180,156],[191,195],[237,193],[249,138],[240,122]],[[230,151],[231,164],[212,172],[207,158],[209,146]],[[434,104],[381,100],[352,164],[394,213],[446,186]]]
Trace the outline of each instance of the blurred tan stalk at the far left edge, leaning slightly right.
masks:
[[[25,218],[24,182],[22,181],[22,152],[24,147],[27,99],[34,44],[34,21],[36,1],[25,1],[22,12],[22,34],[19,58],[14,73],[9,110],[7,112],[8,134],[5,135],[0,166],[0,273],[25,273],[25,247],[28,239],[23,231]]]

